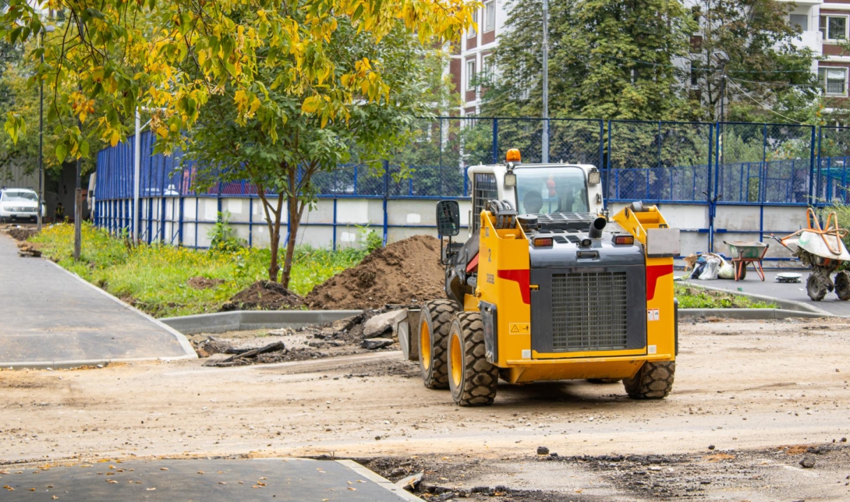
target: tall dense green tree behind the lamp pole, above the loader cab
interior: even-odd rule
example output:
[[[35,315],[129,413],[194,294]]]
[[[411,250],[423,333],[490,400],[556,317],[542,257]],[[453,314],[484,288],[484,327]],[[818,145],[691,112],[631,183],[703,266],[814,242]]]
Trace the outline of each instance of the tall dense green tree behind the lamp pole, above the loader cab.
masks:
[[[513,1],[496,49],[487,115],[541,114],[541,0]],[[550,3],[550,116],[657,120],[683,115],[673,63],[694,24],[677,0]]]

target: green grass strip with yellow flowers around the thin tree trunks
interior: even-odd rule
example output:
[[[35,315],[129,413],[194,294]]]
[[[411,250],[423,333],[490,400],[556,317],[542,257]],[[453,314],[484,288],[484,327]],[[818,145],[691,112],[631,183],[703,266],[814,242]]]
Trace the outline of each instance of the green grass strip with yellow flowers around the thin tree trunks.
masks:
[[[62,267],[160,318],[216,312],[230,296],[269,277],[267,249],[225,253],[195,251],[172,245],[139,245],[133,248],[125,240],[88,223],[82,226],[80,262],[71,258],[74,243],[72,225],[52,225],[31,241],[36,242],[46,256],[58,260]],[[292,264],[290,290],[306,295],[315,285],[353,267],[363,257],[365,251],[352,248],[331,251],[309,245],[298,246]],[[282,267],[282,252],[280,260]],[[222,279],[224,283],[211,290],[195,290],[186,285],[186,281],[196,276]]]

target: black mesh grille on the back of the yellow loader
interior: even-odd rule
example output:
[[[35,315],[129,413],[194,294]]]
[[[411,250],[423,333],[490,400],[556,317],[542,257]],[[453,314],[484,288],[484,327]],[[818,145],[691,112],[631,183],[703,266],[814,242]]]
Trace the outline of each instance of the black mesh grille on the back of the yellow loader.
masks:
[[[626,272],[553,274],[553,349],[626,348]]]

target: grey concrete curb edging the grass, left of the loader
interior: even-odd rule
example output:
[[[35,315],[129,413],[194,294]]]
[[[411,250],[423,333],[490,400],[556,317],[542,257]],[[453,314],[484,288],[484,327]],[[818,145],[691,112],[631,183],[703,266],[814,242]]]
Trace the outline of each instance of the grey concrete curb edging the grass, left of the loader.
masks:
[[[184,335],[225,331],[301,328],[361,313],[361,310],[237,310],[159,319]]]

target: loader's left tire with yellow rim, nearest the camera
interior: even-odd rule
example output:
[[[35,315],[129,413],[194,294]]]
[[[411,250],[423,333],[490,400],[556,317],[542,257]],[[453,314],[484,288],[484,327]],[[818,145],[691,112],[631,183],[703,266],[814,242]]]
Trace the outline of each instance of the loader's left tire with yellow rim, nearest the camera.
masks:
[[[454,344],[458,353],[453,356]],[[481,313],[459,312],[451,322],[446,344],[451,398],[458,406],[486,406],[496,399],[499,369],[484,355]],[[455,367],[455,360],[460,364]]]

